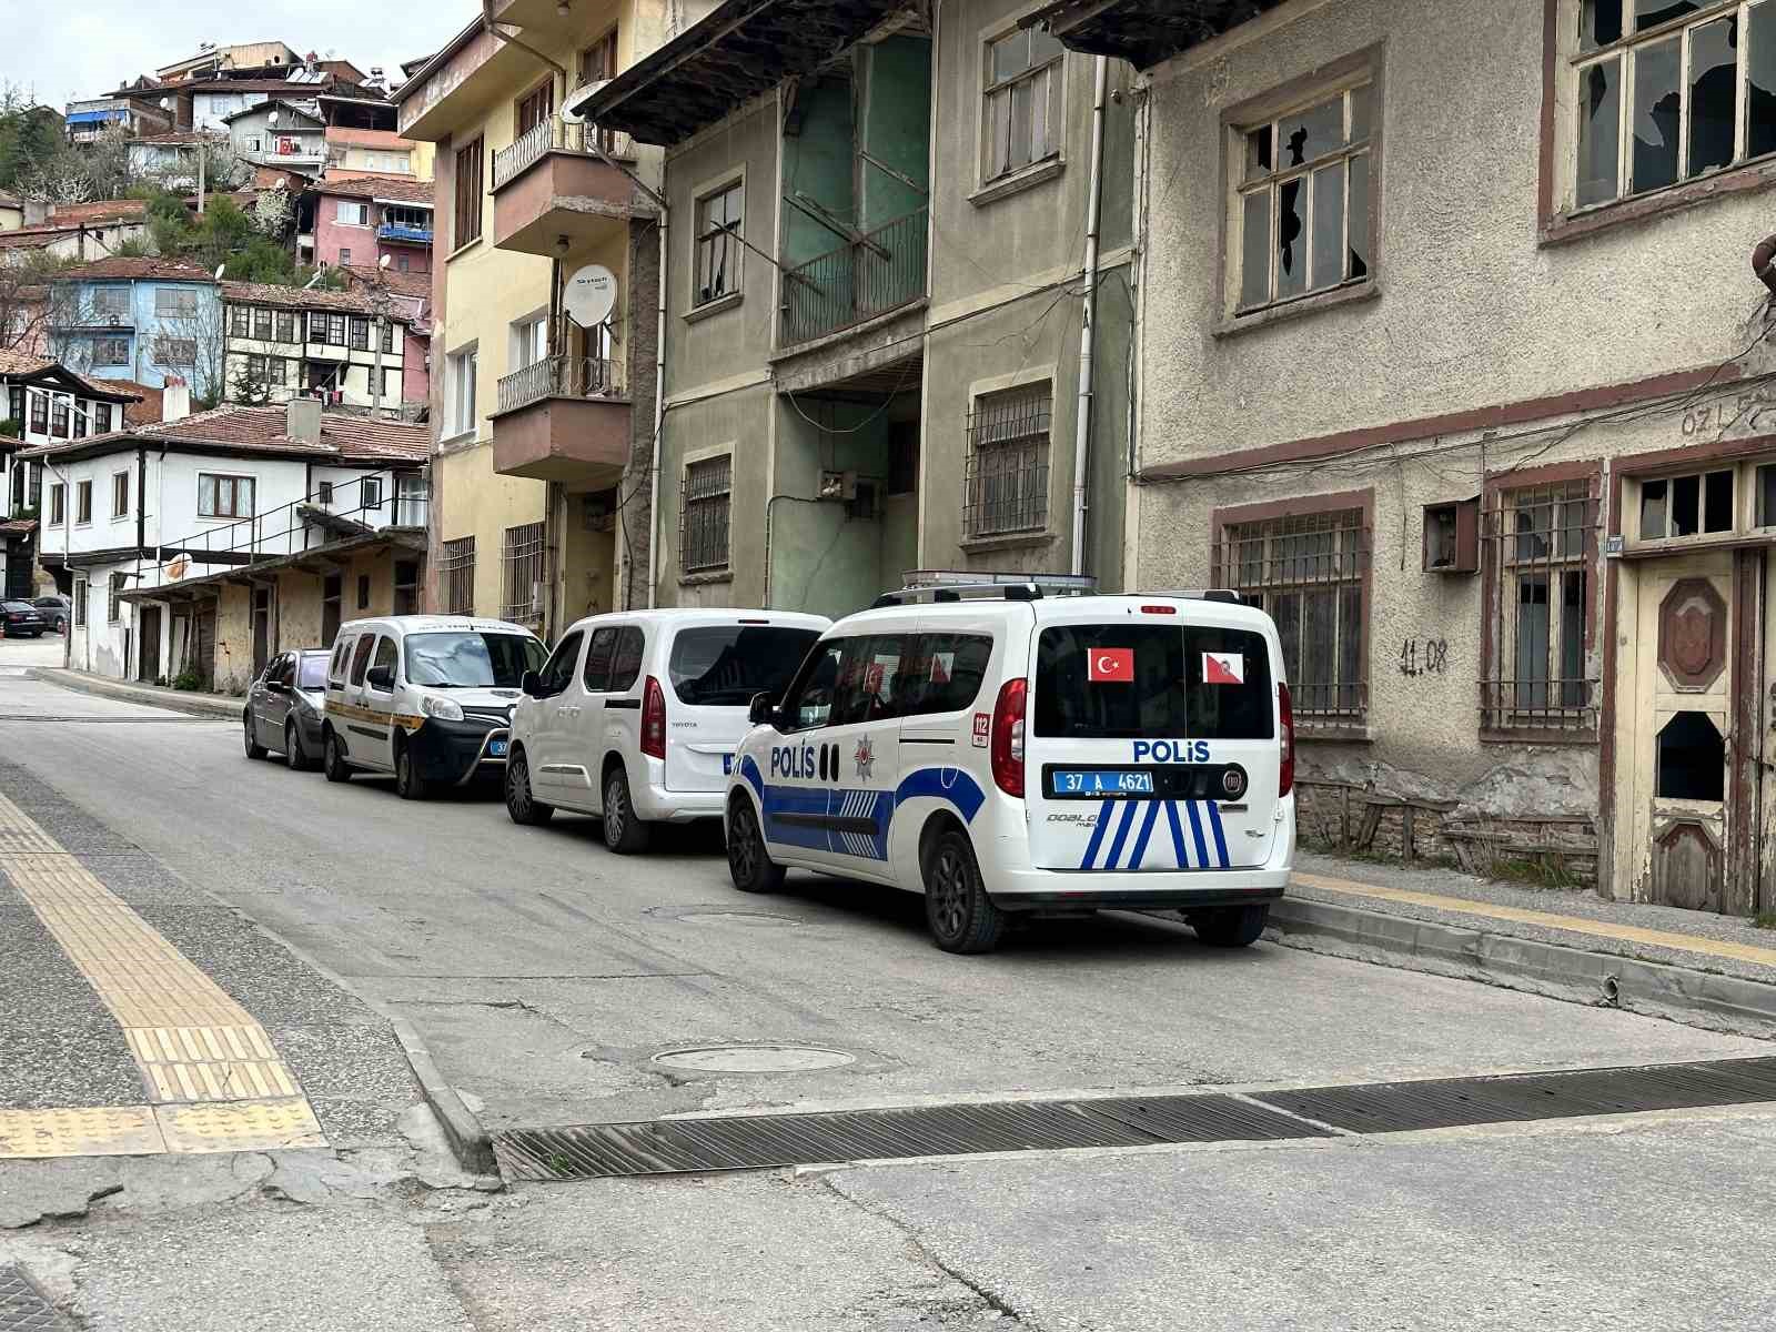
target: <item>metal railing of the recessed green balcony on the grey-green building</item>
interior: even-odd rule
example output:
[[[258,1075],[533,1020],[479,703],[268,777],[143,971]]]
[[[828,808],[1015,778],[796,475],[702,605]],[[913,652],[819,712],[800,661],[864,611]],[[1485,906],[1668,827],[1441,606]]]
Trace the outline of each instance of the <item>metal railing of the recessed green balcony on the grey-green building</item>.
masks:
[[[806,343],[925,295],[925,210],[783,270],[785,346]]]

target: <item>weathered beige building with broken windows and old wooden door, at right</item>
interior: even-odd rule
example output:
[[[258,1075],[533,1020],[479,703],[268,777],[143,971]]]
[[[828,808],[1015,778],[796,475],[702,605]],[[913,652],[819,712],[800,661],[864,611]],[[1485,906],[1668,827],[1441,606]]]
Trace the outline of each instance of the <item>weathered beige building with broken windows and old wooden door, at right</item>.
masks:
[[[1776,5],[1197,9],[1044,14],[1144,71],[1131,581],[1277,618],[1305,836],[1776,908]]]

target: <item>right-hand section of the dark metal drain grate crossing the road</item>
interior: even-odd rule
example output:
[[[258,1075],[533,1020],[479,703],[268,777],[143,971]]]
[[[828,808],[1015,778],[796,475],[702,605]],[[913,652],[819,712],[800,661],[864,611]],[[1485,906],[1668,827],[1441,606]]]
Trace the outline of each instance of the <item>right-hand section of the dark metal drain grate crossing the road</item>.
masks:
[[[1419,1128],[1776,1101],[1776,1058],[1439,1078],[1368,1087],[1302,1087],[1261,1092],[1254,1099],[1352,1133],[1405,1133]]]

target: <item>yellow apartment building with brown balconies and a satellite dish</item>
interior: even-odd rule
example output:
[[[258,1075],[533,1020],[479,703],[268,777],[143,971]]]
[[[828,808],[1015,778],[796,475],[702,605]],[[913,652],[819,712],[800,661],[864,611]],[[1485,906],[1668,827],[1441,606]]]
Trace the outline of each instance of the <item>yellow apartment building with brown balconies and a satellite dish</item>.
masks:
[[[659,155],[559,108],[668,5],[492,5],[396,91],[437,151],[437,606],[554,632],[646,602]],[[638,183],[639,181],[639,183]]]

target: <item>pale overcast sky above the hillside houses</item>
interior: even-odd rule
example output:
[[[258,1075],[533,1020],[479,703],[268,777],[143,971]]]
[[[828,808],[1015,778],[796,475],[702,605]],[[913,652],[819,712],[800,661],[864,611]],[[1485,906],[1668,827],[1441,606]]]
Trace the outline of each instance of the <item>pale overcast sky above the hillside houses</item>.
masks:
[[[474,18],[480,0],[0,0],[0,83],[57,110],[213,41],[286,41],[391,82]]]

